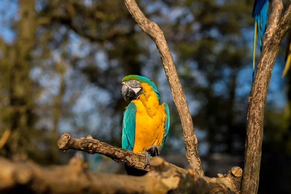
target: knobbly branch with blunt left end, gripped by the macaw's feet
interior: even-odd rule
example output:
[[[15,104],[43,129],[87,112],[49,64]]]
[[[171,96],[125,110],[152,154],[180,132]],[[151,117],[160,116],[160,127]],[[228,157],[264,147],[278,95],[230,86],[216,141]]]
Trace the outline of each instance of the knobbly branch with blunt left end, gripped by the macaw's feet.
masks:
[[[58,146],[61,150],[75,149],[85,151],[89,154],[102,154],[114,160],[115,162],[125,162],[129,166],[137,168],[139,170],[149,171],[149,166],[145,169],[146,157],[143,154],[139,154],[127,149],[113,147],[107,143],[99,142],[93,139],[92,136],[88,135],[87,138],[76,139],[72,138],[68,133],[64,133],[59,141]],[[152,159],[152,157],[150,157]],[[185,169],[175,166],[174,164],[169,165],[176,168],[178,172],[186,172]]]

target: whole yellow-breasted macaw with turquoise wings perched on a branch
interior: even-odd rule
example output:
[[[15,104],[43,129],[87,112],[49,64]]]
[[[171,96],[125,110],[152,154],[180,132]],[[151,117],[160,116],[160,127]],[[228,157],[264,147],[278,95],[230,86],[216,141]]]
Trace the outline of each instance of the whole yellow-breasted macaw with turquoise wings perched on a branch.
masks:
[[[122,127],[122,148],[149,156],[158,156],[168,135],[170,112],[166,102],[160,105],[160,94],[154,82],[129,75],[122,79],[122,97],[129,97]]]

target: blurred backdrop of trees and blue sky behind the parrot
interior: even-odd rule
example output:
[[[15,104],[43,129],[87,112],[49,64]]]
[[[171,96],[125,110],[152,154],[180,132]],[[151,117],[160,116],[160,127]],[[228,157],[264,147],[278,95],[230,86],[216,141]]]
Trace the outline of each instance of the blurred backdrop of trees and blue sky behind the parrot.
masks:
[[[173,52],[206,175],[242,166],[252,83],[253,1],[137,3],[161,27]],[[120,83],[126,75],[139,74],[157,83],[162,101],[170,106],[162,157],[187,167],[161,59],[123,1],[0,0],[0,29],[0,136],[5,129],[12,131],[0,155],[66,163],[75,152],[59,151],[56,142],[63,132],[91,134],[121,146],[127,102]],[[290,192],[291,74],[280,78],[285,47],[283,41],[267,99],[259,193],[273,191],[271,182],[274,191]],[[103,157],[84,156],[99,162],[95,170],[121,172],[120,165]],[[273,175],[281,178],[265,178]]]

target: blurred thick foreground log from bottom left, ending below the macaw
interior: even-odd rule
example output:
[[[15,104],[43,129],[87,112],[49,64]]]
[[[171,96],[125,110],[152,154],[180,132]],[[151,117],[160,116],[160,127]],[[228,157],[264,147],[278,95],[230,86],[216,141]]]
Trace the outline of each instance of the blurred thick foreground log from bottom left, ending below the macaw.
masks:
[[[35,163],[12,163],[0,159],[0,193],[33,194],[164,194],[178,187],[174,173],[162,176],[133,177],[88,173],[80,158],[68,165],[40,167]]]

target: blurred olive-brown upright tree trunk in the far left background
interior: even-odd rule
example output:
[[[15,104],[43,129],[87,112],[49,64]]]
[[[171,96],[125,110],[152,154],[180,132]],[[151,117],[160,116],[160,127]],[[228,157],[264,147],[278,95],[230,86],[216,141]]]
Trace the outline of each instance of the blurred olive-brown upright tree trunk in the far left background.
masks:
[[[35,13],[34,0],[19,1],[20,21],[18,39],[9,55],[11,61],[10,105],[12,108],[10,151],[15,160],[27,158],[28,133],[33,128],[32,80],[30,79],[30,52],[34,45]]]

